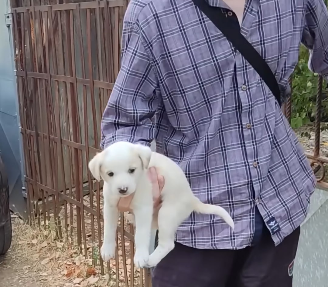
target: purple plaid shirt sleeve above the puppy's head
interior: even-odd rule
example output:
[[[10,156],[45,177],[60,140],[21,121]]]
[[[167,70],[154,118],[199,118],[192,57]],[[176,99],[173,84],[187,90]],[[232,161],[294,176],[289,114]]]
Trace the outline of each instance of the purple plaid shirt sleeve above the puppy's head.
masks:
[[[157,77],[137,24],[124,22],[121,47],[121,68],[101,122],[102,149],[115,141],[150,145],[155,136]]]

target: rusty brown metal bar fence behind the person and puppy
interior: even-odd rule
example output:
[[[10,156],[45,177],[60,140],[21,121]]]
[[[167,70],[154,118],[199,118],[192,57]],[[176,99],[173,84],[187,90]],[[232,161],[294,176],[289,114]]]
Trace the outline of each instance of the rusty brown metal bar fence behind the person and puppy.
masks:
[[[87,168],[98,151],[100,120],[120,66],[122,18],[128,0],[11,0],[17,90],[30,220],[52,220],[59,238],[86,258],[101,246],[101,184]],[[325,182],[320,155],[322,77],[315,150],[307,156]],[[291,101],[283,106],[291,117]],[[149,270],[133,266],[133,227],[121,215],[115,270],[99,256],[116,286],[150,286]],[[107,270],[106,270],[107,269]]]

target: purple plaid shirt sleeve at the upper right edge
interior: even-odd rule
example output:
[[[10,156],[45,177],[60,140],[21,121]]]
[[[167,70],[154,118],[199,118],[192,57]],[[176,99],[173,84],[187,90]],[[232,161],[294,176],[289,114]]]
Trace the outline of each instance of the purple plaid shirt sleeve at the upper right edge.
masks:
[[[309,68],[328,78],[328,11],[324,0],[308,0],[302,43],[310,49]]]

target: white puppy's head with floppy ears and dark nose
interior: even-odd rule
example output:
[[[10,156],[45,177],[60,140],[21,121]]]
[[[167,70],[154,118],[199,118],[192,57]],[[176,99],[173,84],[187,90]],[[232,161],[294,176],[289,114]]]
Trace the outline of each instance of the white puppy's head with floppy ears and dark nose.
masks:
[[[98,181],[102,178],[110,192],[124,197],[135,192],[147,173],[152,151],[149,147],[129,142],[116,142],[97,153],[89,170]]]

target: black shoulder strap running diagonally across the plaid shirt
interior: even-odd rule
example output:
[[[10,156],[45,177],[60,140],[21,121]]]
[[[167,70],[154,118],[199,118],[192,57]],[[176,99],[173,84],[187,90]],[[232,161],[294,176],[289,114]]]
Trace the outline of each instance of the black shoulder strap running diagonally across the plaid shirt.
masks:
[[[268,64],[263,60],[256,49],[235,29],[231,21],[219,10],[207,4],[205,0],[193,0],[194,4],[213,22],[213,24],[222,32],[222,34],[232,43],[241,55],[252,65],[255,71],[267,84],[279,105],[280,89],[276,77]]]

